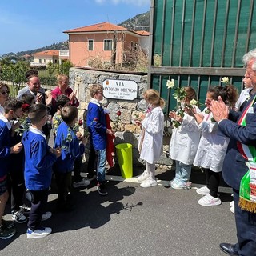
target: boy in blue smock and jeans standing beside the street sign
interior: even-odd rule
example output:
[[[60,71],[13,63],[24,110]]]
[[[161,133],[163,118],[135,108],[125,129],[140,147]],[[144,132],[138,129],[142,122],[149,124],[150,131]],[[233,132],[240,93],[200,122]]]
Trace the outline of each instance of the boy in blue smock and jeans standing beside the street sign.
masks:
[[[103,98],[103,86],[90,86],[90,103],[88,105],[86,124],[90,132],[91,147],[97,154],[98,194],[106,195],[105,164],[106,164],[106,134],[114,135],[106,128],[106,117],[100,101]]]

